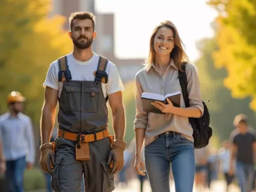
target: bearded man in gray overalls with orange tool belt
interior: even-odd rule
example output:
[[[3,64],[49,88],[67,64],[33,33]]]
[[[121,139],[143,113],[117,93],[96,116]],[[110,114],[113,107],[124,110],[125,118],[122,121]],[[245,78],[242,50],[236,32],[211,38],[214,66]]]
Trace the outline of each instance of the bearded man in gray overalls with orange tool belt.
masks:
[[[86,192],[113,191],[113,174],[122,170],[126,147],[124,86],[115,65],[92,51],[97,35],[93,14],[72,13],[69,22],[74,50],[51,63],[44,83],[40,164],[52,175],[54,191],[81,191],[83,175]],[[107,100],[115,140],[109,137]],[[57,101],[54,158],[50,138]]]

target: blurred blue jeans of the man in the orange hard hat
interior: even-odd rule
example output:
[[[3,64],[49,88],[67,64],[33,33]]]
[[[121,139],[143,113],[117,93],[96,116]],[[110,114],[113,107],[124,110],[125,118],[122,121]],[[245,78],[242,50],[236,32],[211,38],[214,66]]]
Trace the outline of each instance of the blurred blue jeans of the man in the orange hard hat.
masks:
[[[15,161],[6,161],[6,191],[23,192],[23,178],[26,169],[26,157]]]

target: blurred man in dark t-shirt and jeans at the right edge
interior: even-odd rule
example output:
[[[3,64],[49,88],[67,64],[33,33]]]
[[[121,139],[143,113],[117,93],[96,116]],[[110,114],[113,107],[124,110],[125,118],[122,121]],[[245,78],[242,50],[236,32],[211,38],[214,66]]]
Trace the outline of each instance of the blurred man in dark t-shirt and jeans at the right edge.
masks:
[[[234,120],[237,134],[233,133],[229,175],[234,174],[236,159],[237,180],[242,192],[250,192],[253,182],[253,156],[256,152],[255,135],[250,131],[248,119],[239,114]]]

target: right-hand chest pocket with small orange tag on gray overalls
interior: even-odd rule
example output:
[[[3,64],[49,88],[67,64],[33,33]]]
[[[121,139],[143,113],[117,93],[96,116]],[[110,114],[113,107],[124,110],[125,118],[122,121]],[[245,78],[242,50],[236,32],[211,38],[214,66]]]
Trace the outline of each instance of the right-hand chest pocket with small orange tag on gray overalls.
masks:
[[[82,112],[99,112],[104,101],[100,86],[84,86],[82,89]]]

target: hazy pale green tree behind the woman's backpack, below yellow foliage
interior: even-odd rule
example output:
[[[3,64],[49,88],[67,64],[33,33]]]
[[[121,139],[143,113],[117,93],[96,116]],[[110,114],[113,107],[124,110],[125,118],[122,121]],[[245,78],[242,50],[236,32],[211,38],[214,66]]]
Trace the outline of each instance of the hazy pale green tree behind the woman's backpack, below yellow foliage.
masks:
[[[202,98],[210,100],[207,103],[211,115],[211,125],[214,134],[221,140],[227,139],[230,132],[234,129],[233,120],[238,113],[248,115],[250,123],[256,123],[255,113],[248,107],[250,99],[234,99],[223,85],[223,79],[227,76],[225,68],[217,69],[214,67],[212,52],[218,51],[215,38],[200,40],[197,44],[201,52],[201,58],[196,61]]]

